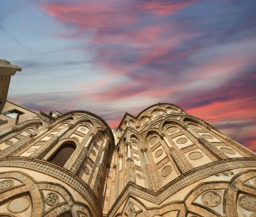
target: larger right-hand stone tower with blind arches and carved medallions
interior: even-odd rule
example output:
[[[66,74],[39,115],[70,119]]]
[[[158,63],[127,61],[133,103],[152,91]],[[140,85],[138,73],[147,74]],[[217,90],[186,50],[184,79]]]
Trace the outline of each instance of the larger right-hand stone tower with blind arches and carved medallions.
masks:
[[[177,105],[125,114],[104,216],[255,216],[255,153]]]

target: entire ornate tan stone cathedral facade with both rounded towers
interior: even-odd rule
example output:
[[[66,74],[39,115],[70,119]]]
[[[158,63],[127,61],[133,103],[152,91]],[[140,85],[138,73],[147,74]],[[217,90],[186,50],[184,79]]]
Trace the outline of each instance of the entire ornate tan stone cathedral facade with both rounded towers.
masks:
[[[86,111],[40,112],[1,130],[0,216],[253,217],[255,157],[170,103],[117,130]]]

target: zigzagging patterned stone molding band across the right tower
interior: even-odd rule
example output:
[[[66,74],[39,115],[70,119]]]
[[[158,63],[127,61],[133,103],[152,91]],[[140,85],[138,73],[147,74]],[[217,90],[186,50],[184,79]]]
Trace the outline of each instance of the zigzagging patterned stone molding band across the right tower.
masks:
[[[115,203],[108,211],[107,216],[115,214],[119,206],[125,202],[125,199],[129,195],[139,196],[144,200],[153,202],[154,204],[161,204],[174,193],[177,193],[179,190],[187,187],[187,185],[199,181],[200,179],[215,175],[216,173],[222,173],[224,171],[246,167],[256,167],[256,159],[238,158],[216,161],[187,171],[187,173],[183,173],[181,176],[177,177],[177,179],[170,181],[170,183],[162,187],[162,189],[157,192],[150,191],[149,189],[140,187],[139,185],[135,185],[133,183],[127,183],[123,191],[115,200]]]

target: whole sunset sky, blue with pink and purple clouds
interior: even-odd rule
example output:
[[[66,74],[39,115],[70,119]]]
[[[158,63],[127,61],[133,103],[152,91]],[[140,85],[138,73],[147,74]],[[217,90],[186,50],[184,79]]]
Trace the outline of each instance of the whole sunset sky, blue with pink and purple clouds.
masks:
[[[256,150],[255,0],[1,0],[9,100],[36,112],[174,103]]]

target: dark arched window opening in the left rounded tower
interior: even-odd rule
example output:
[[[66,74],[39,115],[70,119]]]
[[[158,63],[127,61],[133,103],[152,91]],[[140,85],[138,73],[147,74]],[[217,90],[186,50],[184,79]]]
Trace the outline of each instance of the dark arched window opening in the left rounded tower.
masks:
[[[49,159],[49,162],[54,163],[60,167],[64,167],[65,163],[69,160],[69,157],[75,151],[75,144],[65,143],[62,144],[57,152]]]

